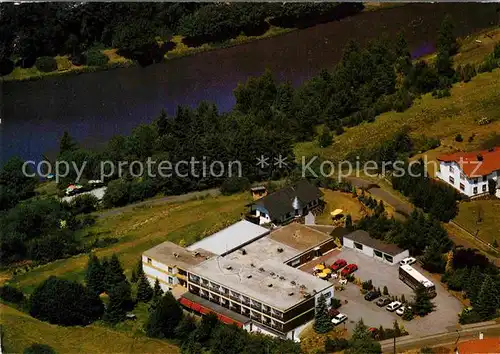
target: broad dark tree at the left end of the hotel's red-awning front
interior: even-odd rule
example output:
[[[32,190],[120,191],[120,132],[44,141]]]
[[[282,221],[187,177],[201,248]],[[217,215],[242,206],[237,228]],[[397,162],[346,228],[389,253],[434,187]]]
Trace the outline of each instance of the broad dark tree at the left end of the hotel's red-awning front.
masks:
[[[170,292],[166,293],[150,312],[146,334],[153,338],[172,338],[182,319],[182,308]]]

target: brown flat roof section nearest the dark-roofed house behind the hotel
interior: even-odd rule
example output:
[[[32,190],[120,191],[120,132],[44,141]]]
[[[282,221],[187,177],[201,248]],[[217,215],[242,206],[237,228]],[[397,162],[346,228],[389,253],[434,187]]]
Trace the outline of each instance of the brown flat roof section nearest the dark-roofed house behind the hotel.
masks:
[[[332,237],[309,226],[291,223],[271,232],[269,238],[281,242],[296,249],[299,253],[302,253],[312,247],[328,241]]]

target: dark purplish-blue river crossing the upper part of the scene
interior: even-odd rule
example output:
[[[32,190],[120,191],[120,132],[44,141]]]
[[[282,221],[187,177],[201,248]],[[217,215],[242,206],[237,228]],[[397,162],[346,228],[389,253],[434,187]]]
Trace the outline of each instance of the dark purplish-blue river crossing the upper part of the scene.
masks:
[[[2,160],[54,153],[67,130],[84,146],[98,146],[150,122],[161,108],[215,102],[221,111],[235,103],[239,81],[270,68],[278,80],[299,84],[341,57],[349,39],[366,43],[383,33],[404,30],[412,54],[432,52],[446,13],[457,35],[466,36],[498,23],[491,4],[411,4],[366,12],[337,22],[147,68],[127,68],[3,84],[0,126]]]

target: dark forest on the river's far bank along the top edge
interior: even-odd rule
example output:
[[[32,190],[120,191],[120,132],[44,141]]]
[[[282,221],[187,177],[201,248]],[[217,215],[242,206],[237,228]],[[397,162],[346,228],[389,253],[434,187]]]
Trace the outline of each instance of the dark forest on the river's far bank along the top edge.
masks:
[[[148,65],[163,60],[172,35],[199,46],[262,35],[271,25],[308,27],[362,9],[361,3],[3,3],[0,74],[14,66],[53,71],[56,55],[69,55],[77,66],[103,66],[102,48]]]

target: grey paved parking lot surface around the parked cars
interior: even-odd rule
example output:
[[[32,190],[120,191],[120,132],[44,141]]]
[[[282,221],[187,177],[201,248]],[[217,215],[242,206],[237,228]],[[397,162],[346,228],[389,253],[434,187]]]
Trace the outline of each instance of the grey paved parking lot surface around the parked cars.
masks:
[[[407,300],[412,300],[413,291],[408,285],[399,280],[397,265],[390,266],[345,248],[341,252],[332,252],[328,254],[328,257],[322,257],[321,261],[330,265],[339,258],[345,259],[347,263],[358,265],[359,269],[354,273],[357,278],[363,281],[371,279],[373,285],[380,287],[381,290],[384,286],[387,286],[390,295],[400,297],[404,294]],[[413,266],[430,279],[426,271],[416,264]],[[332,279],[331,281],[337,284],[337,280]],[[458,323],[457,315],[462,310],[462,305],[439,283],[435,281],[434,283],[437,292],[437,296],[432,300],[436,305],[435,311],[423,318],[415,318],[409,322],[403,321],[395,312],[389,312],[385,307],[378,307],[375,305],[375,301],[366,301],[359,287],[354,284],[347,284],[344,291],[336,291],[335,297],[342,300],[342,307],[339,310],[348,316],[346,327],[349,330],[352,330],[356,322],[362,318],[364,323],[370,327],[379,327],[380,325],[392,327],[394,320],[397,319],[400,324],[404,325],[410,335],[414,336],[454,331]],[[347,303],[345,303],[345,300],[347,300]]]

